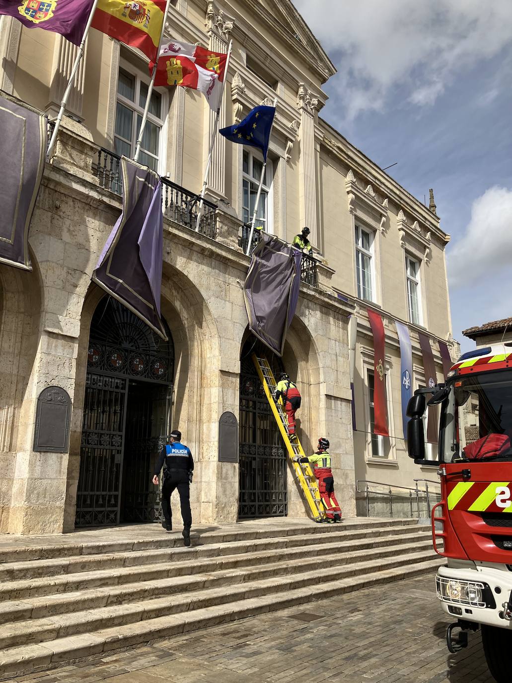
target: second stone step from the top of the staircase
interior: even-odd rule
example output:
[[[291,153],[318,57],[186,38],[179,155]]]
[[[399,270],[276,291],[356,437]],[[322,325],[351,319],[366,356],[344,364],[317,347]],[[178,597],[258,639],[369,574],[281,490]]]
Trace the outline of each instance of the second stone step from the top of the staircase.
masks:
[[[430,535],[429,527],[393,527],[393,529],[378,529],[371,538],[367,531],[333,531],[329,535],[296,535],[285,538],[272,538],[252,542],[232,542],[222,544],[206,544],[191,546],[190,548],[165,548],[162,550],[147,550],[140,552],[109,553],[106,555],[79,555],[77,557],[63,557],[59,559],[42,559],[20,562],[6,562],[0,565],[0,583],[35,579],[44,576],[63,576],[102,569],[133,567],[137,565],[155,564],[160,562],[181,561],[190,553],[195,557],[217,557],[218,555],[235,555],[237,553],[255,552],[257,550],[272,550],[281,548],[307,548],[307,552],[314,552],[319,544],[338,541],[340,544],[352,544],[358,548],[371,547],[375,543],[408,542],[409,537]],[[193,539],[194,540],[194,539]]]

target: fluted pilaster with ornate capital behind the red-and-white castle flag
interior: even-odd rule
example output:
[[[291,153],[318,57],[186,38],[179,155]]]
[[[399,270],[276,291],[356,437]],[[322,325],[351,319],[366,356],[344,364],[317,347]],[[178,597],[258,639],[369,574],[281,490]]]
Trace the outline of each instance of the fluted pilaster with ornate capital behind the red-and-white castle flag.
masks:
[[[208,33],[208,48],[213,52],[227,52],[229,36],[233,29],[233,19],[225,15],[223,10],[219,10],[216,3],[210,0],[206,10],[206,31]],[[227,79],[229,74],[225,74]],[[205,103],[206,122],[205,122],[205,154],[204,165],[208,158],[208,150],[215,126],[216,113]],[[226,94],[224,93],[221,104],[221,115],[218,120],[218,128],[226,125]],[[226,197],[226,140],[222,135],[217,135],[212,153],[212,163],[210,165],[210,175],[208,178],[208,192],[215,199],[225,199]]]

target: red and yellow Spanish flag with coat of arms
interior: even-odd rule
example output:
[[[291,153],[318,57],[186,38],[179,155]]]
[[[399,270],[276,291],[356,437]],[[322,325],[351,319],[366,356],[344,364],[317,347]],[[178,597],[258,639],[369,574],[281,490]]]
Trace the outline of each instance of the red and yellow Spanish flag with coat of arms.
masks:
[[[99,0],[92,27],[137,47],[155,61],[165,19],[166,0]]]

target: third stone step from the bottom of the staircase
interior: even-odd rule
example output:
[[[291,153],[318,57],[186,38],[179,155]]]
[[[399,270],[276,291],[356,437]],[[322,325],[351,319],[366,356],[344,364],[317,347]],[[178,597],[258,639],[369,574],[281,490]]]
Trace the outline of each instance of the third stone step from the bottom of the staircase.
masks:
[[[414,553],[415,551],[422,551],[431,553],[431,541],[421,540],[414,542],[414,544],[389,544],[374,548],[372,550],[341,550],[335,544],[326,544],[319,548],[316,556],[302,561],[298,565],[298,570],[305,571],[308,568],[326,568],[328,566],[345,566],[349,563],[360,563],[362,561],[375,561],[385,557],[393,557],[393,555],[404,555],[406,553]],[[300,553],[300,550],[295,551]],[[260,576],[268,576],[272,572],[272,576],[281,576],[289,573],[289,568],[293,566],[291,563],[297,556],[291,557],[289,551],[283,550],[272,551],[273,555],[270,561],[267,558],[259,557],[259,564],[251,563],[253,558],[246,557],[247,564],[244,566],[232,567],[229,556],[221,558],[216,566],[202,565],[197,571],[197,565],[188,563],[187,566],[180,565],[182,574],[179,576],[168,576],[167,578],[159,577],[148,581],[135,581],[134,583],[127,581],[123,585],[109,584],[105,587],[85,587],[77,591],[61,591],[60,593],[45,594],[44,596],[25,597],[20,595],[20,591],[16,591],[16,599],[0,603],[0,624],[8,624],[10,622],[18,622],[25,619],[41,619],[48,616],[60,615],[63,613],[98,609],[109,605],[126,604],[128,602],[141,600],[150,600],[158,595],[173,595],[182,591],[201,590],[205,586],[212,585],[229,585],[234,583],[241,583],[242,581],[255,580]],[[255,554],[256,555],[256,554]],[[228,563],[223,563],[223,560]],[[235,556],[239,559],[239,556]],[[299,559],[304,557],[299,556]],[[359,567],[360,565],[358,565]],[[189,572],[193,569],[195,572]],[[133,577],[130,577],[133,578]]]

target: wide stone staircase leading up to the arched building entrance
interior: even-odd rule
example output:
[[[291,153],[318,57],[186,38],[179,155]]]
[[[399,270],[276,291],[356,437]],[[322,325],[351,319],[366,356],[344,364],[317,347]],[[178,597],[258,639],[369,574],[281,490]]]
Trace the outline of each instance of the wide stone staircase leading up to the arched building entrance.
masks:
[[[136,540],[75,542],[74,533],[0,544],[0,679],[427,574],[442,561],[416,520],[242,523],[193,531],[190,548],[180,533],[139,528]]]

